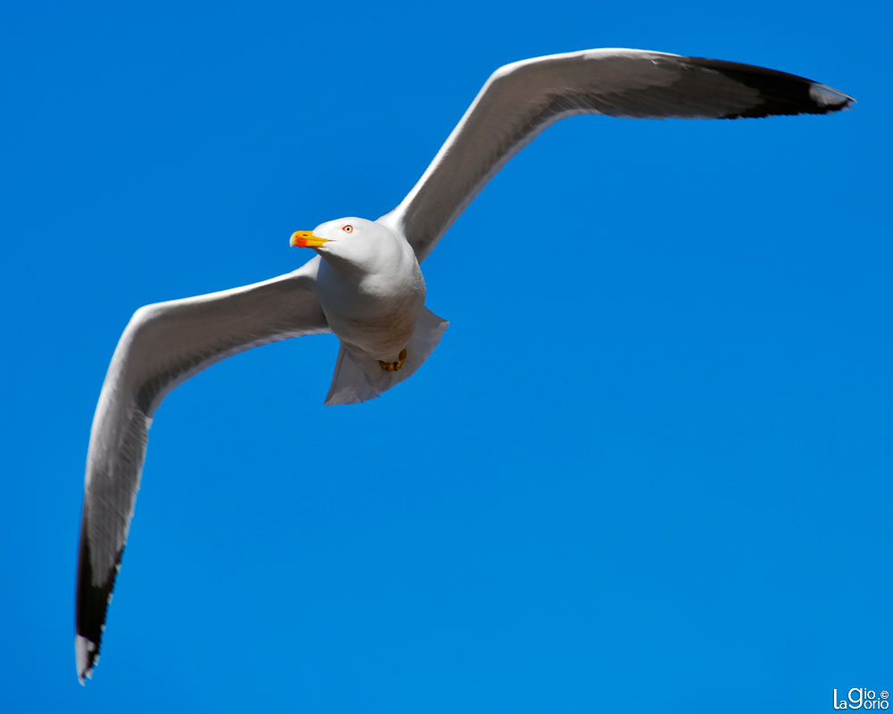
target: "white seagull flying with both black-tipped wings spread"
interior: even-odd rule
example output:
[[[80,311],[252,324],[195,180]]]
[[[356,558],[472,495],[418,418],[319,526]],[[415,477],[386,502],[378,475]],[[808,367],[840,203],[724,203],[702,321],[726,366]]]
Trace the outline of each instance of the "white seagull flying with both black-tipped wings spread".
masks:
[[[90,431],[76,591],[80,683],[99,657],[148,429],[171,389],[252,347],[330,332],[340,348],[326,404],[364,402],[410,377],[447,328],[425,307],[421,262],[505,162],[555,121],[827,114],[854,101],[786,72],[645,50],[506,64],[391,212],[296,231],[291,245],[317,254],[278,278],[139,308],[113,353]]]

